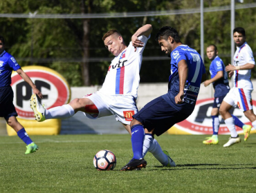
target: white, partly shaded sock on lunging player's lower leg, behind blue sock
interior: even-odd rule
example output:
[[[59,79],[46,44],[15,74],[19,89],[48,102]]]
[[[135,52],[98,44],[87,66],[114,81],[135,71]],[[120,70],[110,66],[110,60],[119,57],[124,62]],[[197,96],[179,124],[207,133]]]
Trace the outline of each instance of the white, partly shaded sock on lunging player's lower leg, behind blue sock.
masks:
[[[168,156],[163,153],[161,146],[151,134],[145,134],[143,142],[143,157],[147,154],[147,151],[151,152],[163,165],[167,165],[169,163]]]

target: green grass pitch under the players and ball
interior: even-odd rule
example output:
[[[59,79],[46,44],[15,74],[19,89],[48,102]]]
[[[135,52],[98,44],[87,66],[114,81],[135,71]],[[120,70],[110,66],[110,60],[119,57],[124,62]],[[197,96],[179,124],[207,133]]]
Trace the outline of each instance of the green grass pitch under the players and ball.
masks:
[[[255,192],[256,134],[223,148],[203,145],[202,135],[168,135],[156,139],[176,167],[162,167],[148,153],[147,167],[120,172],[132,157],[128,134],[31,136],[39,151],[25,155],[17,136],[0,136],[0,192]],[[99,150],[116,154],[113,171],[97,171]]]

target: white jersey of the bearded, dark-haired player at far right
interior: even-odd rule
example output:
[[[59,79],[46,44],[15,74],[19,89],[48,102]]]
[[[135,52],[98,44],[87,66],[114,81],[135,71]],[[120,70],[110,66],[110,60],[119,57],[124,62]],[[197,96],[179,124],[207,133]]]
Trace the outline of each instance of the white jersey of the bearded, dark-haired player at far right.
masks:
[[[237,51],[234,55],[235,66],[245,65],[246,63],[252,63],[255,65],[253,58],[253,51],[250,46],[245,42],[240,47],[237,47]],[[253,83],[250,81],[251,70],[235,70],[234,71],[234,86],[236,88],[244,88],[247,90],[253,90]]]

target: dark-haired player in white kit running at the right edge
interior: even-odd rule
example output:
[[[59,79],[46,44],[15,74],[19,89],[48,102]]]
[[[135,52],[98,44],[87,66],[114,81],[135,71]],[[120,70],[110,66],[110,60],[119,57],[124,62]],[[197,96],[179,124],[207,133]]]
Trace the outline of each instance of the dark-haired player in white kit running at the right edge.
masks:
[[[235,28],[233,30],[233,39],[237,45],[237,51],[234,55],[233,65],[226,66],[226,72],[229,76],[234,74],[234,87],[228,92],[221,103],[219,112],[224,119],[231,137],[228,143],[223,147],[228,147],[241,141],[235,130],[235,123],[231,114],[228,112],[232,106],[238,106],[244,112],[244,115],[250,120],[253,127],[256,128],[256,115],[253,112],[253,100],[251,93],[253,92],[253,83],[250,81],[250,71],[255,68],[253,52],[248,43],[246,43],[246,32],[244,28]],[[250,135],[250,128],[244,130],[244,141]]]

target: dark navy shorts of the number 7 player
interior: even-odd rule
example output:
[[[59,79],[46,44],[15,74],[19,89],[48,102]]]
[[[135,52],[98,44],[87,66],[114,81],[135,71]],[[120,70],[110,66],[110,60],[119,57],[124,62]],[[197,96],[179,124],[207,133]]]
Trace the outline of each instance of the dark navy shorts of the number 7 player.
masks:
[[[134,119],[143,123],[144,128],[149,132],[154,129],[157,136],[163,134],[176,123],[179,123],[190,116],[190,112],[184,113],[173,108],[162,96],[150,101],[138,113]]]

